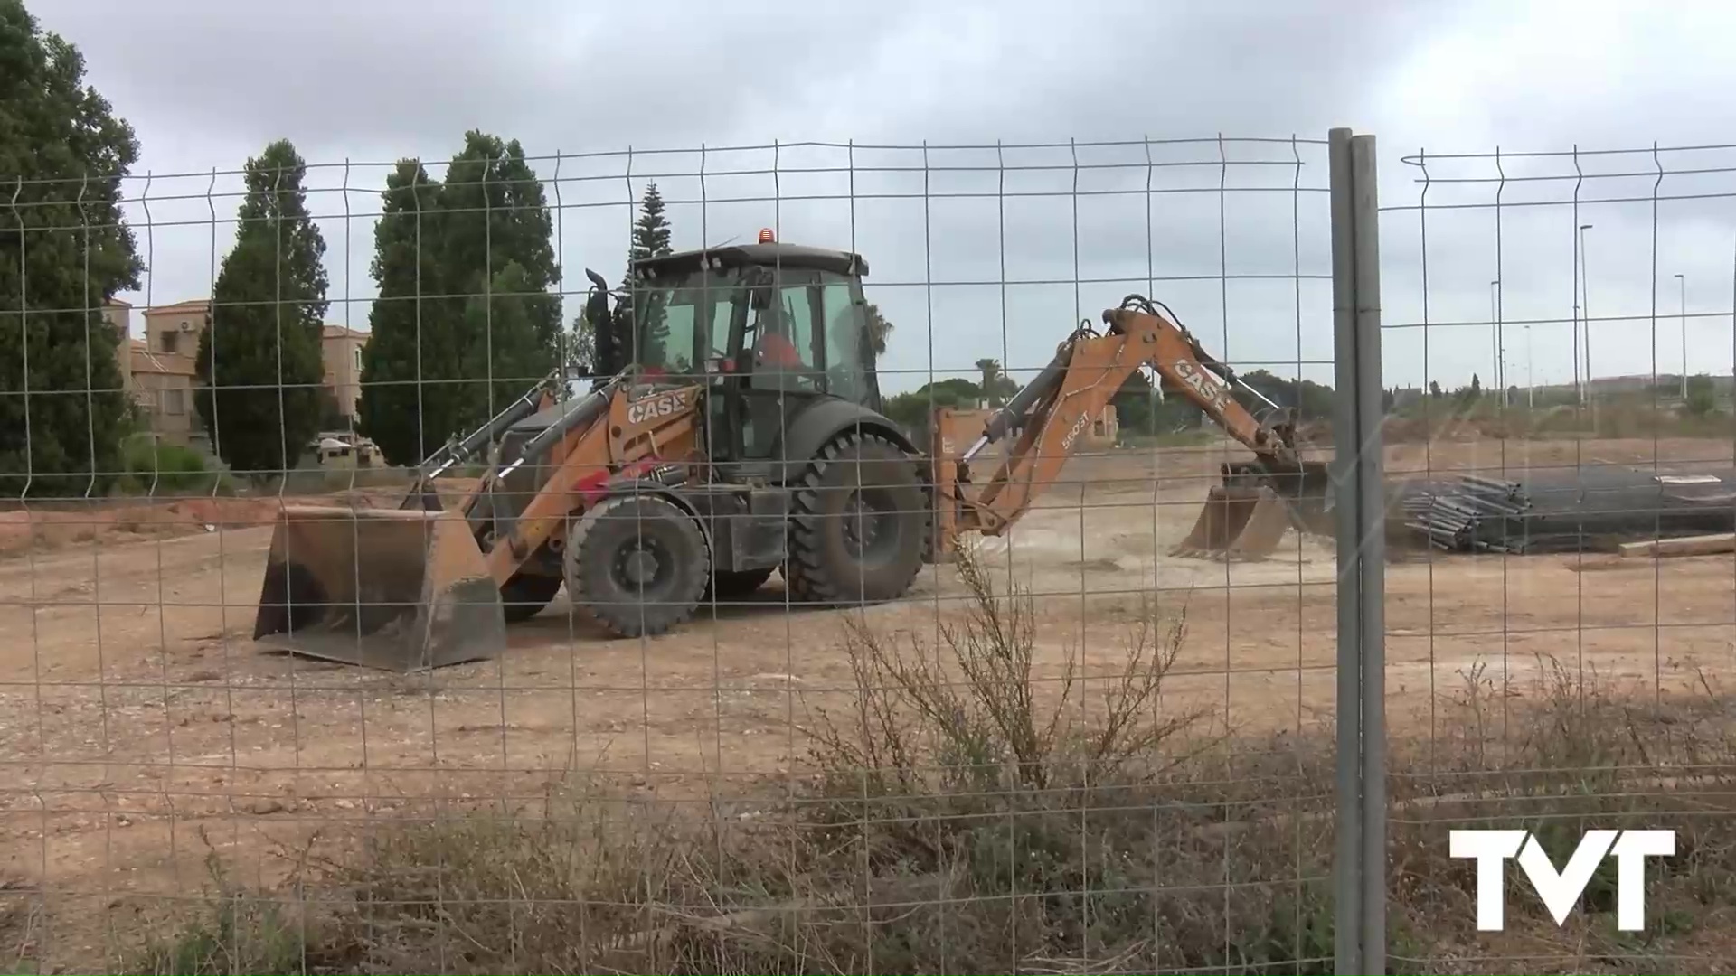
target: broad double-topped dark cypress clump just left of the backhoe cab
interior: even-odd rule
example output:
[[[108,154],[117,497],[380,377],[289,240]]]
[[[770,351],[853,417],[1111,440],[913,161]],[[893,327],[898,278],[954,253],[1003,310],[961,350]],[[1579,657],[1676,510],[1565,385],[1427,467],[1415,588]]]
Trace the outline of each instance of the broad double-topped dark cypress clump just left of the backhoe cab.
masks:
[[[387,179],[358,427],[417,464],[521,396],[562,346],[554,219],[517,141],[467,132],[446,179]]]

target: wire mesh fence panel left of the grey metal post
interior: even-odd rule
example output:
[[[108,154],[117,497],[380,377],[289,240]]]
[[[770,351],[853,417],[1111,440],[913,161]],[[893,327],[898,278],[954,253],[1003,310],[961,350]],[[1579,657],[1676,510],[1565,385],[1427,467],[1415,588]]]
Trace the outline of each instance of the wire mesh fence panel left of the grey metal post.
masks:
[[[113,254],[120,228],[87,207],[95,181],[12,181],[0,254],[21,297],[0,316],[30,337],[9,339],[24,354],[62,358],[21,363],[0,391],[17,460],[0,472],[0,611],[9,634],[30,636],[0,674],[19,879],[5,919],[24,933],[21,959],[172,971],[174,953],[205,952],[241,971],[491,973],[1330,964],[1344,584],[1318,533],[1290,531],[1260,561],[1174,552],[1219,464],[1246,452],[1153,387],[1149,368],[1109,373],[1127,373],[1115,412],[1082,417],[1073,434],[1087,443],[1064,465],[1061,431],[1016,432],[976,462],[976,483],[1007,462],[1007,491],[1035,504],[1016,507],[1009,533],[925,561],[908,590],[797,592],[825,577],[783,552],[833,524],[812,507],[828,471],[852,467],[837,478],[863,498],[899,497],[873,481],[884,465],[851,453],[865,439],[930,452],[941,408],[969,413],[974,436],[1076,328],[1106,333],[1102,313],[1128,295],[1250,380],[1248,408],[1299,408],[1316,457],[1330,455],[1342,380],[1326,170],[1326,142],[1300,137],[554,156],[472,141],[450,165],[231,163],[102,184],[144,266],[132,306],[97,300],[118,276],[92,255]],[[656,210],[667,236],[646,222]],[[871,313],[837,276],[804,280],[786,309],[809,313],[809,351],[842,354],[851,335],[825,332],[842,297],[837,311],[865,316],[863,346],[884,344],[873,370],[845,361],[844,375],[755,399],[752,377],[729,379],[746,351],[705,335],[733,313],[740,337],[757,311],[727,274],[696,299],[623,280],[635,234],[654,255],[752,245],[762,228],[866,259]],[[99,240],[111,250],[73,247]],[[68,271],[68,254],[85,267]],[[806,267],[783,260],[792,280]],[[57,293],[92,300],[38,297]],[[632,333],[627,358],[712,391],[710,453],[729,460],[700,457],[677,478],[668,462],[693,436],[658,427],[637,479],[575,483],[557,505],[575,518],[523,552],[505,526],[535,521],[533,490],[510,476],[481,497],[505,509],[472,509],[469,524],[392,514],[410,465],[510,412],[545,373],[557,379],[542,410],[491,438],[502,453],[453,465],[444,511],[545,420],[594,403],[608,370],[578,323],[599,297],[660,323]],[[240,340],[226,344],[226,325]],[[693,354],[672,354],[672,335]],[[1068,382],[1090,387],[1102,368]],[[889,424],[809,443],[797,406],[821,392],[871,401]],[[139,405],[130,427],[123,401]],[[547,443],[613,441],[620,460],[635,425],[682,408],[634,394]],[[779,474],[767,443],[814,453]],[[582,471],[597,465],[569,474]],[[797,491],[767,488],[779,479]],[[708,493],[715,481],[753,490]],[[568,547],[604,551],[594,540],[615,531],[576,518],[615,504],[599,488],[663,563],[611,551],[616,575],[583,585],[674,573],[693,538],[733,568],[667,634],[609,639],[592,620],[646,627],[670,613],[653,597],[630,613],[573,610],[575,573],[602,563]],[[705,531],[648,516],[668,505]],[[304,528],[283,530],[285,509]],[[276,594],[274,524],[304,564]],[[413,601],[443,596],[420,584],[431,573],[481,584],[418,618]],[[516,618],[498,630],[479,610],[495,594]],[[359,627],[406,658],[439,644],[451,663],[398,672],[253,639],[255,615],[281,603],[307,615],[321,596],[352,617],[304,630],[302,651],[356,655]],[[398,623],[382,627],[391,611]],[[451,629],[462,639],[443,643]]]

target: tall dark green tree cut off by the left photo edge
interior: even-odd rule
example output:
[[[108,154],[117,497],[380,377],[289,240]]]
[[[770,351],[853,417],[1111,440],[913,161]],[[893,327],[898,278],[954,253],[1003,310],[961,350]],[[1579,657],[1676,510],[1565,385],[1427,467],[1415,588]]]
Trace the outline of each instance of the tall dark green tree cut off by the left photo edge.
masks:
[[[85,61],[0,0],[0,493],[106,491],[120,469],[127,337],[102,304],[139,287],[122,179],[139,156],[132,127]],[[30,365],[26,372],[26,363]],[[17,396],[26,392],[26,396]]]

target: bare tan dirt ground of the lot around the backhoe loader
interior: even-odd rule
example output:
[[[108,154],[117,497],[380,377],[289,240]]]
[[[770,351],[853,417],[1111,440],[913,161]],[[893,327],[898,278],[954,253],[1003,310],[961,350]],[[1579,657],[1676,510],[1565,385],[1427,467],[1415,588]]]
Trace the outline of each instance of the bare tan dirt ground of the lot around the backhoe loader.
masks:
[[[1168,556],[1224,457],[1082,457],[984,557],[1029,589],[1050,663],[1069,648],[1087,665],[1120,658],[1149,597],[1187,620],[1165,707],[1210,705],[1233,728],[1330,721],[1330,540],[1292,535],[1285,552],[1245,564]],[[1654,462],[1729,465],[1731,445],[1457,441],[1387,457],[1392,476]],[[800,771],[809,709],[840,705],[849,686],[842,617],[786,610],[776,577],[753,606],[705,611],[649,641],[606,641],[557,597],[512,629],[505,656],[434,676],[266,655],[250,634],[271,528],[250,523],[269,511],[184,507],[94,528],[62,514],[47,533],[19,528],[17,512],[0,521],[0,540],[12,540],[0,545],[0,894],[12,886],[89,907],[57,924],[64,950],[95,948],[137,896],[198,894],[210,847],[278,875],[269,847],[316,827],[448,801],[535,801],[571,769],[672,795],[698,795],[703,781],[726,804],[764,794]],[[910,599],[865,618],[932,646],[958,596],[953,570],[925,568]],[[1392,563],[1389,714],[1427,735],[1434,695],[1477,667],[1522,683],[1538,655],[1646,683],[1689,681],[1694,669],[1717,681],[1733,611],[1733,556]]]

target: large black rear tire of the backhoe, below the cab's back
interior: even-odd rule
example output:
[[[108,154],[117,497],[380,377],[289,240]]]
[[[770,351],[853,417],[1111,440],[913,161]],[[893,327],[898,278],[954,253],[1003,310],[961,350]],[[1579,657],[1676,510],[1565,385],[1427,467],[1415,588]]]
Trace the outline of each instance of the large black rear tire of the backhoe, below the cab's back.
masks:
[[[898,599],[922,570],[929,518],[917,462],[877,434],[845,432],[795,491],[785,578],[802,603]]]

